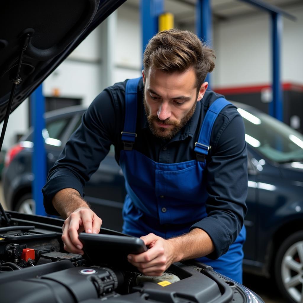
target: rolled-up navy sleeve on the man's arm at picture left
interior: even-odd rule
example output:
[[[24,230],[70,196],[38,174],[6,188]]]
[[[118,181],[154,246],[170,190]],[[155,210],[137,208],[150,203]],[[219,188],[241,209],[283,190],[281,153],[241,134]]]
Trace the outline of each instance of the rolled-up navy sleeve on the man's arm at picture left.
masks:
[[[83,188],[98,169],[112,144],[116,127],[115,108],[108,92],[103,91],[82,117],[61,155],[50,169],[42,188],[43,203],[48,214],[58,215],[52,205],[54,195],[64,188],[74,188],[83,197]]]

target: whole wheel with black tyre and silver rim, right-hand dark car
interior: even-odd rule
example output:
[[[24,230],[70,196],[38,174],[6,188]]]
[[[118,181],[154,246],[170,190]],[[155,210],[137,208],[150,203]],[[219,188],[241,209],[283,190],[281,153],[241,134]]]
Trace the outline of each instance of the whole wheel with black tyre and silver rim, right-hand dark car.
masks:
[[[275,260],[275,277],[289,302],[303,302],[303,231],[282,242]]]

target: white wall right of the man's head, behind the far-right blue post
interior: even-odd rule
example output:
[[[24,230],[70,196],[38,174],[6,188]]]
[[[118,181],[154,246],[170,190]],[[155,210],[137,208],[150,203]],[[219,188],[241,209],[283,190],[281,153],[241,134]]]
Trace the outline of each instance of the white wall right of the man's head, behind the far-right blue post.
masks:
[[[281,78],[303,84],[303,5],[288,9],[296,22],[283,18]],[[271,22],[267,13],[221,21],[214,26],[216,87],[271,82]]]

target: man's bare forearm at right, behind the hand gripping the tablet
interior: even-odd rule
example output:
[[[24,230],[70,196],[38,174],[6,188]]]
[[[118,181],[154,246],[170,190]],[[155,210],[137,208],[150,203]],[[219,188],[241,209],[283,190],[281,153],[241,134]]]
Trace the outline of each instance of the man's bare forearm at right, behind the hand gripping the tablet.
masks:
[[[171,238],[168,241],[174,247],[173,262],[203,257],[215,249],[209,235],[200,228],[195,228],[186,235]]]

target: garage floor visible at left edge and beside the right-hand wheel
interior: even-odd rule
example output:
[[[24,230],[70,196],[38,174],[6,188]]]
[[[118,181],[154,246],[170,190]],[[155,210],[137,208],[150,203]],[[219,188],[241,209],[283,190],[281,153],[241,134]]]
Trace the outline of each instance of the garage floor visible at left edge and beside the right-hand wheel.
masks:
[[[7,209],[3,198],[3,189],[1,182],[0,201],[4,209]],[[243,285],[257,293],[265,301],[265,303],[286,303],[286,300],[281,298],[281,295],[277,293],[277,288],[272,280],[258,277],[255,275],[244,274]]]

